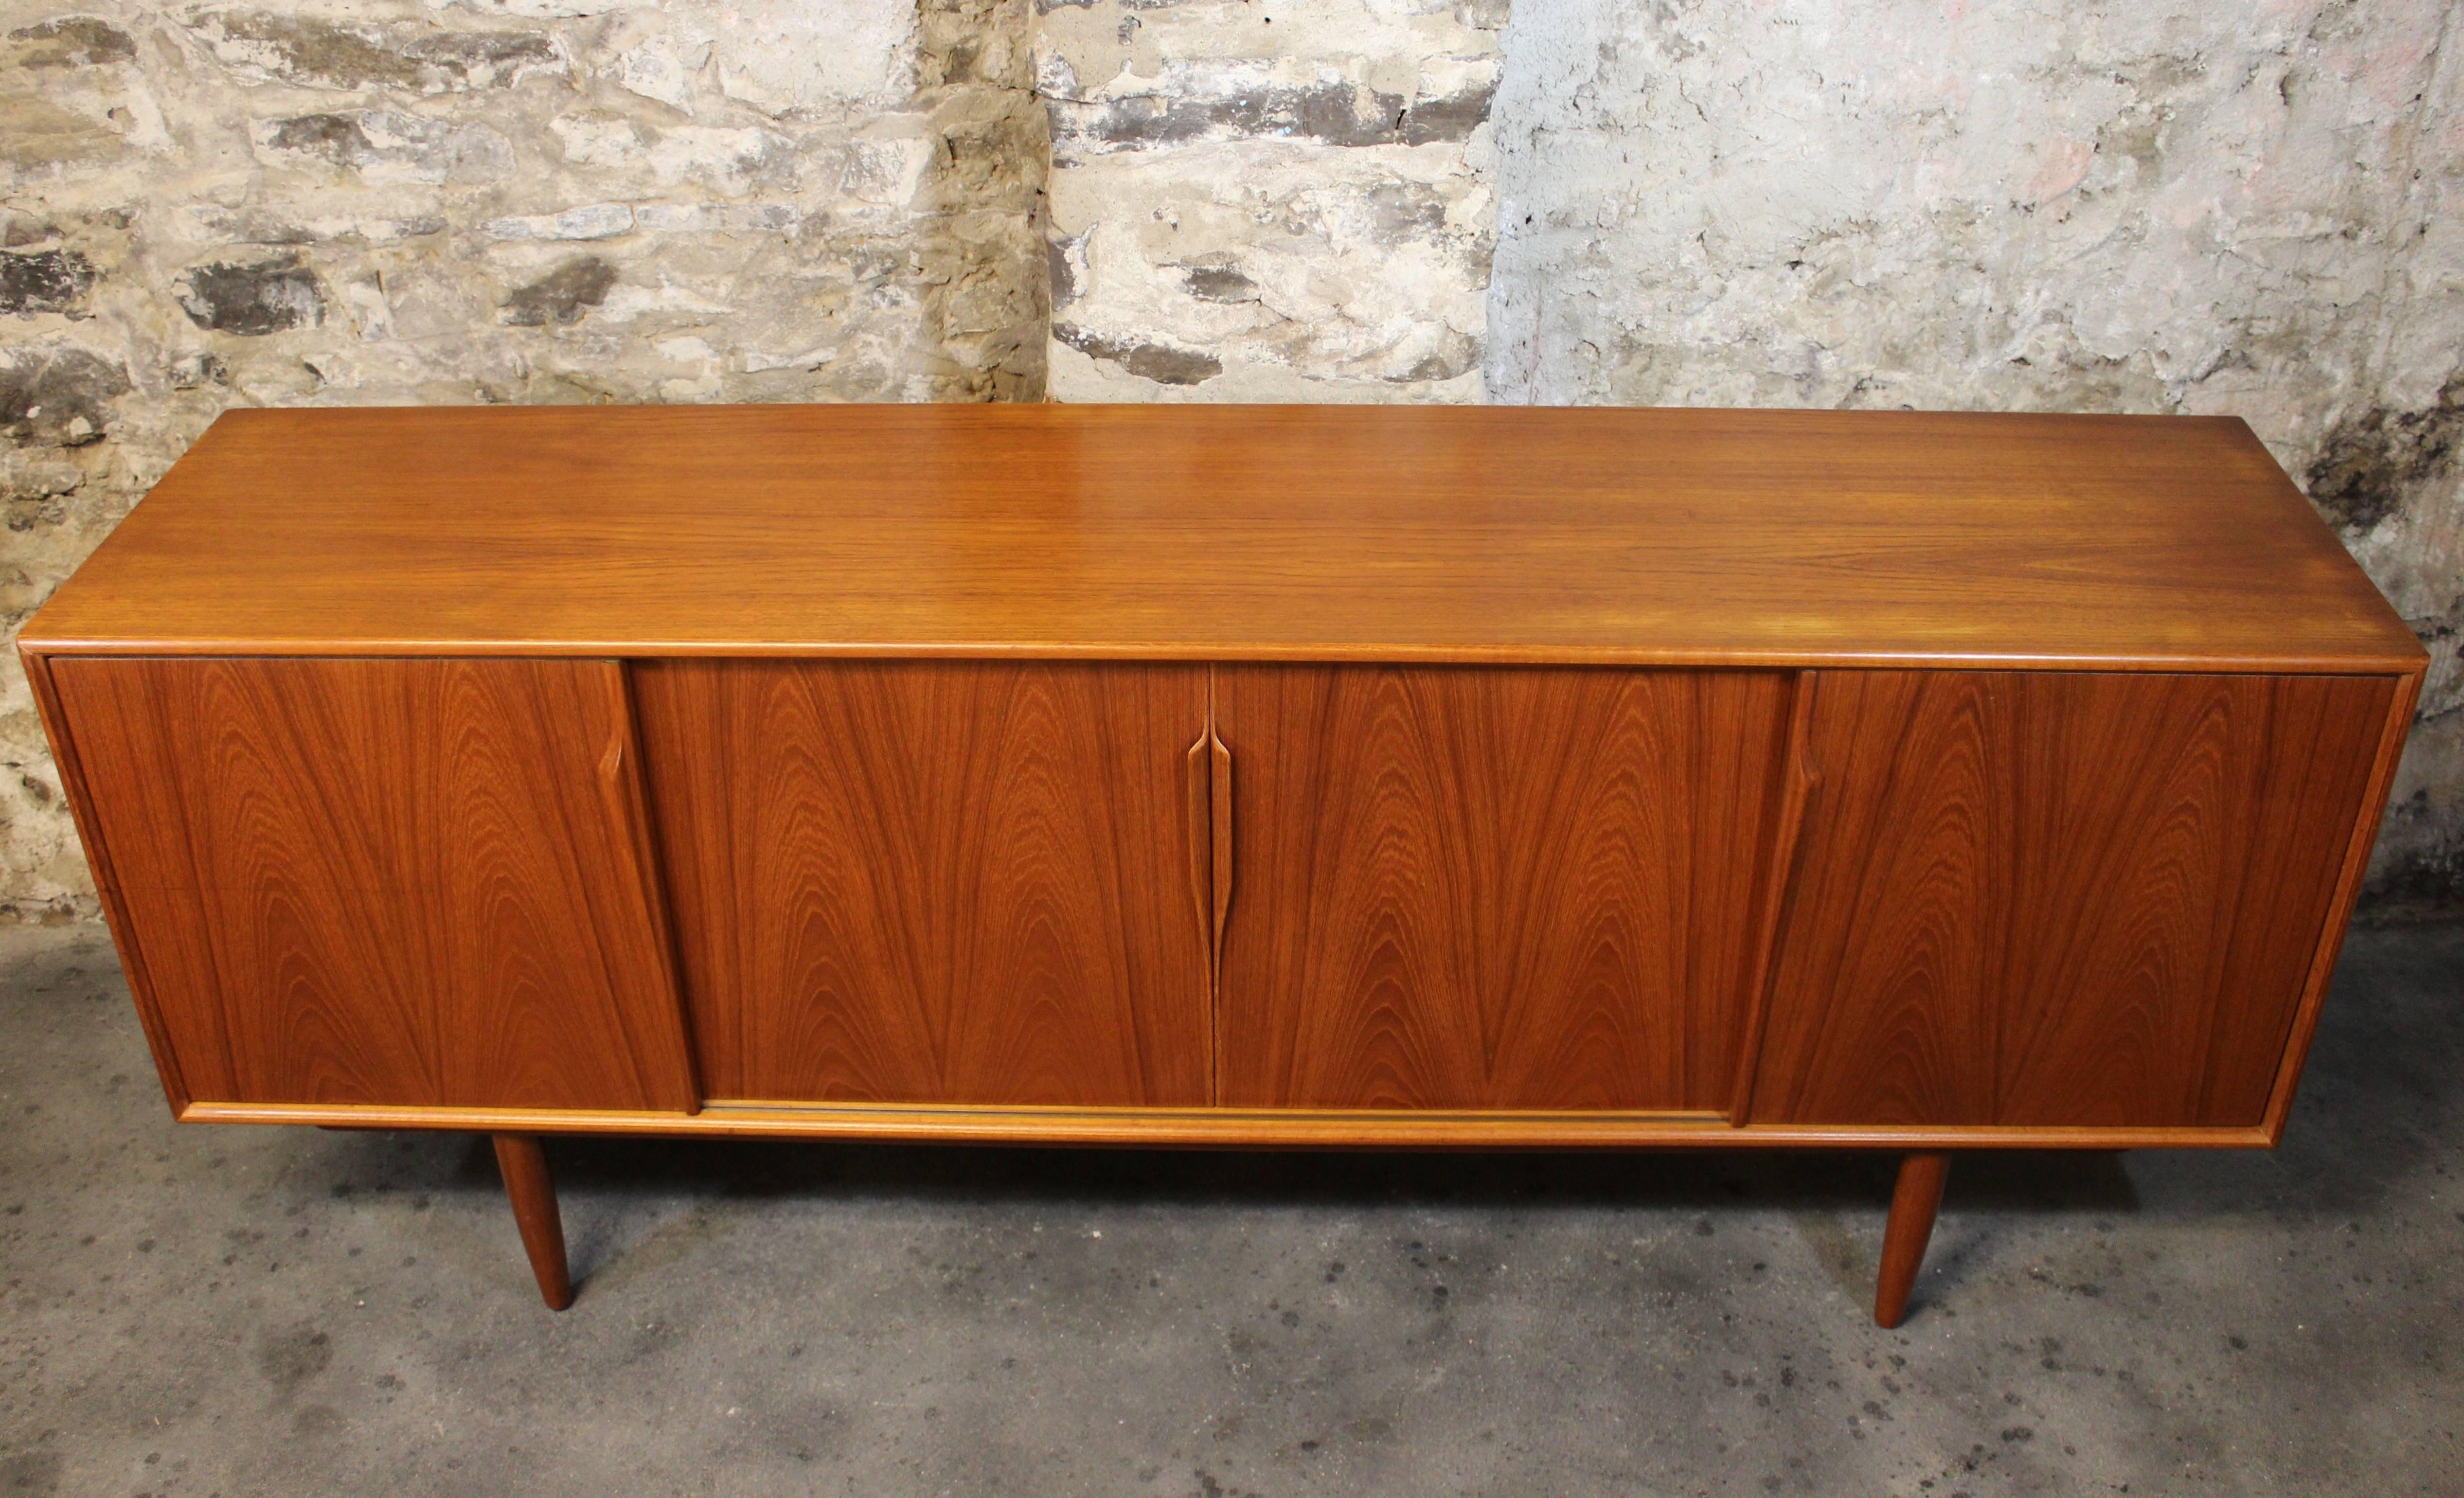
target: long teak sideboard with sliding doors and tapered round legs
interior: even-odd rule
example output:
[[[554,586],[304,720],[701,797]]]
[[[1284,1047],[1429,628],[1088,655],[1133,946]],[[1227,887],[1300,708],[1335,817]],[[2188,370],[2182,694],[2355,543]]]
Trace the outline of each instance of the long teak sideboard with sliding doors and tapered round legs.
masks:
[[[182,1121],[2272,1146],[2425,653],[2232,419],[232,411],[22,650]]]

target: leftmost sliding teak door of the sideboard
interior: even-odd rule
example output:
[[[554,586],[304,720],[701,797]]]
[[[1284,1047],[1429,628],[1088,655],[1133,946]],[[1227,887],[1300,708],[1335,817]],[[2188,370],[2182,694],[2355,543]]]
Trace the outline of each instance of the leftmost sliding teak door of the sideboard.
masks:
[[[52,685],[192,1096],[697,1104],[614,663],[54,660]]]

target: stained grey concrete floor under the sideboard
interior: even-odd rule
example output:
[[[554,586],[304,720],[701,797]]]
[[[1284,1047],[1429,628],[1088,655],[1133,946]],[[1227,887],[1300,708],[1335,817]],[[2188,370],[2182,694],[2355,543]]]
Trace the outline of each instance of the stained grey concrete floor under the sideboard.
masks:
[[[0,1496],[2459,1493],[2464,929],[2361,931],[2287,1148],[1858,1156],[177,1128],[0,929]]]

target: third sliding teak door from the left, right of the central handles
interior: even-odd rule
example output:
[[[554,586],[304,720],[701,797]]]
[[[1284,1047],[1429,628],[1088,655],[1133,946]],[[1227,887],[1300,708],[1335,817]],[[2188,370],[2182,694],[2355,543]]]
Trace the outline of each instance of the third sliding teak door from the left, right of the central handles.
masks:
[[[1222,668],[1234,1106],[1720,1109],[1791,682]]]

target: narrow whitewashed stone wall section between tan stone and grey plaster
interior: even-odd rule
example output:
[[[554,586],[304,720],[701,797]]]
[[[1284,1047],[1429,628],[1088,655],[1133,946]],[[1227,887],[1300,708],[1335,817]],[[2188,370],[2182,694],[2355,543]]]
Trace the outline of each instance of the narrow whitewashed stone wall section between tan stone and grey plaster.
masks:
[[[1481,399],[1503,0],[1040,5],[1057,399]]]

